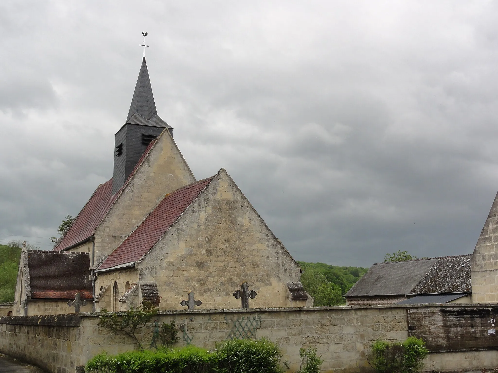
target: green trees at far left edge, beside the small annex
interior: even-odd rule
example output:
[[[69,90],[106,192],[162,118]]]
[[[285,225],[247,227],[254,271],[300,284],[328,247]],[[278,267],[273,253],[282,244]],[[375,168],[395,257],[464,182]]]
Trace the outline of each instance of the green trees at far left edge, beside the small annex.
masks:
[[[0,303],[14,301],[21,248],[18,242],[0,245]]]

